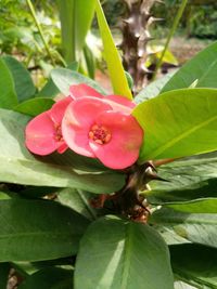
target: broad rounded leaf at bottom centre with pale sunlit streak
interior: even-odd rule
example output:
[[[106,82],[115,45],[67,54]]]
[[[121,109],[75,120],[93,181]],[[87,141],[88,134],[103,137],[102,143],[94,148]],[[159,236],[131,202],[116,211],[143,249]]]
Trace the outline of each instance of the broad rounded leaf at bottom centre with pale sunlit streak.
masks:
[[[164,240],[149,225],[99,219],[80,241],[75,271],[75,289],[79,288],[174,288]]]

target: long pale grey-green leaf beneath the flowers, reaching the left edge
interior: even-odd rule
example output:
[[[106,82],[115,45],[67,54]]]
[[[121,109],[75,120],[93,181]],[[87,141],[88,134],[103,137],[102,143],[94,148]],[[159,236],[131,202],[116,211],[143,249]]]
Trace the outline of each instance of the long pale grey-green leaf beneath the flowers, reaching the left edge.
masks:
[[[0,181],[35,186],[76,187],[93,193],[112,193],[122,188],[125,175],[113,171],[90,174],[72,166],[47,163],[25,147],[24,130],[28,117],[0,110]]]

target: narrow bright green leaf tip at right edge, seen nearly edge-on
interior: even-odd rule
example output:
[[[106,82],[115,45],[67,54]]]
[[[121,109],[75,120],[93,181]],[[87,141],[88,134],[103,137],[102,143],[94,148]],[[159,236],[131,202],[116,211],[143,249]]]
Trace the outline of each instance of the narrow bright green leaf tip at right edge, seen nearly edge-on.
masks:
[[[217,191],[217,189],[216,189]],[[206,198],[192,200],[186,203],[171,203],[167,208],[187,213],[216,213],[217,214],[217,198]]]

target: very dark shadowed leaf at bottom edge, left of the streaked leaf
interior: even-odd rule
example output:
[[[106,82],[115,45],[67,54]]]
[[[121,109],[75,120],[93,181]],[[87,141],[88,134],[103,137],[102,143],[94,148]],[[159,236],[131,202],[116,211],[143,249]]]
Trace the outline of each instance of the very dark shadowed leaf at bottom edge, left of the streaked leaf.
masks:
[[[72,289],[73,270],[48,267],[34,273],[24,280],[18,289]]]

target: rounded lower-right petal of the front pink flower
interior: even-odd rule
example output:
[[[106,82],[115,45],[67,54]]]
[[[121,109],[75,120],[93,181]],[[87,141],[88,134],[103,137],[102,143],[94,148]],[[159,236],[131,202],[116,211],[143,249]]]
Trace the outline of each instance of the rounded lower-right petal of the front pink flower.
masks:
[[[112,133],[106,144],[89,141],[92,152],[102,163],[112,169],[125,169],[135,163],[143,140],[143,130],[137,120],[130,115],[104,111],[97,117],[95,122]]]

